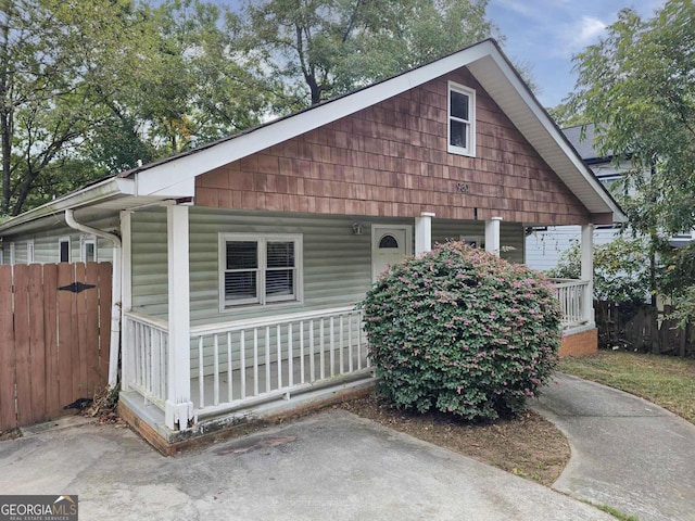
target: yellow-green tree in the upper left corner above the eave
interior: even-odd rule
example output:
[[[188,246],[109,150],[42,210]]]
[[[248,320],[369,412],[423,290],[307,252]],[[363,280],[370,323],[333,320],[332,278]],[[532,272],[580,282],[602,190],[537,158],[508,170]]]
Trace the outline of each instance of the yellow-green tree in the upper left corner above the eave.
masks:
[[[1,213],[18,214],[105,117],[125,64],[147,69],[144,33],[130,0],[0,0]]]

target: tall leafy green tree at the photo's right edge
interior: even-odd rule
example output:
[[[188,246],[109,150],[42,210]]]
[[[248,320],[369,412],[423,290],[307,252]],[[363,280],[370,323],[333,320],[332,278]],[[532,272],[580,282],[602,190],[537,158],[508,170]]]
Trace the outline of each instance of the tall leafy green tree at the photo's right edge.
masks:
[[[596,124],[599,151],[631,163],[630,196],[620,202],[632,230],[649,238],[653,293],[658,258],[669,255],[665,238],[695,227],[693,20],[692,0],[669,0],[649,20],[621,11],[607,36],[574,58],[568,100]]]

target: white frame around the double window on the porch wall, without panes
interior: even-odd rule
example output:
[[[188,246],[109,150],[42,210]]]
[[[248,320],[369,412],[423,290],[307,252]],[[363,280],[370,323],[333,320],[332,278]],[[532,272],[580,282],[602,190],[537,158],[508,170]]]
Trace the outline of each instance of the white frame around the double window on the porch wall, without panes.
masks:
[[[219,271],[219,310],[230,310],[239,306],[281,306],[288,304],[301,304],[304,302],[304,245],[301,233],[219,233],[218,240],[218,271]],[[225,271],[228,241],[253,241],[258,243],[256,294],[257,298],[248,298],[237,302],[227,302],[225,298]],[[294,272],[295,291],[291,297],[270,297],[265,295],[266,271],[266,244],[268,242],[294,242]]]

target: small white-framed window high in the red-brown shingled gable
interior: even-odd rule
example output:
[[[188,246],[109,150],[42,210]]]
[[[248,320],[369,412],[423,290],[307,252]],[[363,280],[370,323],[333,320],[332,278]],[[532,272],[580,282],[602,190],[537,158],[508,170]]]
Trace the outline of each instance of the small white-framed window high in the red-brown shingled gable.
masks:
[[[476,155],[476,91],[448,82],[448,151]]]

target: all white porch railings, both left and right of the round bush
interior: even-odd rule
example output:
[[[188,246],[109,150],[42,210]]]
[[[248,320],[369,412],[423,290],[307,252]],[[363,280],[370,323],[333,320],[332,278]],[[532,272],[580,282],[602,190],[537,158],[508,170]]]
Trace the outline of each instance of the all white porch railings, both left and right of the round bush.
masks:
[[[584,315],[590,283],[564,279],[555,287],[564,343],[592,331],[593,317]],[[168,331],[165,320],[124,314],[122,399],[150,425],[166,425],[160,434],[169,442],[177,430],[202,434],[374,383],[362,310],[354,307],[192,327],[190,371],[179,381],[168,370]],[[184,425],[167,421],[176,391],[190,395]]]

